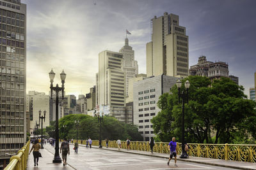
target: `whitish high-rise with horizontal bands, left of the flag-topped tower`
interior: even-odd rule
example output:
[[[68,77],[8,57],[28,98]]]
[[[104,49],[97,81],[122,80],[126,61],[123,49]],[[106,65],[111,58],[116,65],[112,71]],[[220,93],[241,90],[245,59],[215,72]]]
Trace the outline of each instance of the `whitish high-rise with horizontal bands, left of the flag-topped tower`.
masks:
[[[96,74],[96,109],[125,122],[125,74],[123,55],[118,52],[99,53],[99,72]]]

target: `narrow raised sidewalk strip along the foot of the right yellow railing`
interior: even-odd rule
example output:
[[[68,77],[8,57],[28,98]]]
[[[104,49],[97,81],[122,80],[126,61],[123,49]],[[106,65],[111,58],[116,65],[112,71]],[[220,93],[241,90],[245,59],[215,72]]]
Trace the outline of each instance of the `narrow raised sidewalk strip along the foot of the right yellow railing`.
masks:
[[[74,145],[70,143],[70,145]],[[86,146],[86,145],[81,145],[79,146]],[[93,148],[99,148],[99,146],[92,146]],[[99,148],[103,150],[111,150],[115,152],[124,152],[124,153],[132,153],[132,154],[138,154],[138,155],[147,155],[151,157],[160,157],[160,158],[169,158],[168,153],[151,153],[151,152],[145,152],[145,151],[138,151],[138,150],[125,150],[121,149],[118,151],[118,148]],[[233,169],[256,169],[256,163],[251,163],[251,162],[239,162],[239,161],[234,161],[234,160],[222,160],[222,159],[209,159],[209,158],[202,158],[202,157],[189,157],[189,159],[180,159],[179,155],[177,155],[177,160],[184,161],[184,162],[193,162],[193,163],[198,163],[198,164],[206,164],[206,165],[211,165],[211,166],[220,166],[220,167],[229,167]]]

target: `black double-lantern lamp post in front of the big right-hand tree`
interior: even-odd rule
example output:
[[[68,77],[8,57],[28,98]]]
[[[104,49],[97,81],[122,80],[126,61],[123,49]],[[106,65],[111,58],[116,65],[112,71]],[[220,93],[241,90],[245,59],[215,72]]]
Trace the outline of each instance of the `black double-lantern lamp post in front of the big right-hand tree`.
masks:
[[[188,155],[185,152],[185,116],[184,116],[184,108],[185,108],[185,103],[188,103],[188,89],[190,86],[189,81],[187,80],[185,82],[185,89],[182,92],[180,92],[180,88],[182,85],[182,82],[180,80],[177,81],[177,87],[178,87],[178,93],[179,93],[179,103],[180,103],[180,97],[182,98],[182,153],[180,155],[180,158],[185,159],[188,158]]]

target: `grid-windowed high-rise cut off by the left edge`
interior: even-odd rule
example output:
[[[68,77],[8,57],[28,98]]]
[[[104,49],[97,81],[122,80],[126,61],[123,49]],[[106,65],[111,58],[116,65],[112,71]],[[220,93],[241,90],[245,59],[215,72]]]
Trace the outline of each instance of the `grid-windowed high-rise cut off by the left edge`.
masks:
[[[0,169],[26,143],[26,4],[0,1]]]

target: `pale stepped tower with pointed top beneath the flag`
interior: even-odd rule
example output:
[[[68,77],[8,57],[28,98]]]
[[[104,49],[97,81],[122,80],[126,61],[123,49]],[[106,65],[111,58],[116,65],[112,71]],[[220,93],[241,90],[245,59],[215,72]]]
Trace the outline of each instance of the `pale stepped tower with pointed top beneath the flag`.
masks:
[[[129,46],[128,38],[125,38],[125,45],[119,52],[123,54],[122,70],[125,73],[125,96],[128,96],[129,80],[138,74],[138,62],[134,60],[134,50]]]

